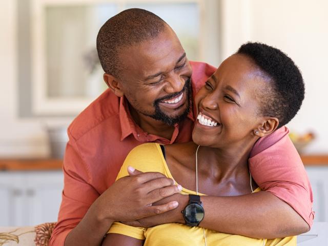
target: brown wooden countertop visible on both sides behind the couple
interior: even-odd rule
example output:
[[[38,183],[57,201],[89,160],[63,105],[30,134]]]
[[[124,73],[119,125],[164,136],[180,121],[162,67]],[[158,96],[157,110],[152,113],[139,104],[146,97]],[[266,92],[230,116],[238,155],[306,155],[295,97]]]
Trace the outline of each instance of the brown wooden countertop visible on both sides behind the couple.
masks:
[[[328,155],[301,155],[304,166],[327,166]],[[58,171],[59,159],[0,159],[0,171]]]

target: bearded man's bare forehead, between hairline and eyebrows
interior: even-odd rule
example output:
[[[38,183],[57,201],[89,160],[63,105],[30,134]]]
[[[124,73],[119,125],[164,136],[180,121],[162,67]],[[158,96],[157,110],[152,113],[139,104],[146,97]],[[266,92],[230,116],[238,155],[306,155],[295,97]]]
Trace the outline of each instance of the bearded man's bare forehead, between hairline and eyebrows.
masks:
[[[167,27],[156,38],[124,48],[118,57],[123,70],[134,76],[147,77],[170,71],[183,53],[176,34]]]

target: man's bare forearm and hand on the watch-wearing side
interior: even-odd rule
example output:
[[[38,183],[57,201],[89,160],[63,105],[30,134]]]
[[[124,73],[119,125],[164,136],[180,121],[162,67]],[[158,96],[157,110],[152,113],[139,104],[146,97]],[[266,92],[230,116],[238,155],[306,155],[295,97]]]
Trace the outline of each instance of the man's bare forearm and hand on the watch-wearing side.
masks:
[[[136,171],[138,172],[138,171]],[[125,222],[135,227],[153,227],[163,223],[185,223],[181,211],[188,195],[175,194],[155,204],[176,200],[177,209],[136,221]],[[280,238],[309,231],[309,225],[287,203],[270,192],[242,196],[201,196],[205,217],[200,226],[211,230],[254,238]]]

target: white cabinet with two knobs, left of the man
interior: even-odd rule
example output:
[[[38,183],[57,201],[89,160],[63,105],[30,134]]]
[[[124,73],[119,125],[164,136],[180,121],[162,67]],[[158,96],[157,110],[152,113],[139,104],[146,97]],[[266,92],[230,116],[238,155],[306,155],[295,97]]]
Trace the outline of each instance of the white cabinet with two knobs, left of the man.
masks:
[[[57,220],[63,172],[0,172],[0,226],[34,226]]]

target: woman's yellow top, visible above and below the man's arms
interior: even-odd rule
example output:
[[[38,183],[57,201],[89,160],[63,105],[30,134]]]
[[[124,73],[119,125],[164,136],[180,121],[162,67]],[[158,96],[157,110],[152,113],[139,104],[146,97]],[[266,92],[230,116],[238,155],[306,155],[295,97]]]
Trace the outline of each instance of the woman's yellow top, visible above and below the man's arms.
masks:
[[[165,158],[159,144],[143,144],[134,148],[124,161],[116,179],[128,176],[127,167],[132,166],[142,172],[160,172],[167,177],[173,178],[167,166]],[[254,192],[260,191],[256,189]],[[181,194],[194,194],[191,191],[182,188]],[[198,193],[198,195],[204,195]],[[133,238],[145,240],[145,246],[167,246],[167,245],[205,245],[203,228],[189,227],[180,223],[161,224],[152,228],[136,228],[127,226],[119,222],[114,222],[108,233],[117,233],[130,236]],[[272,245],[295,245],[296,236],[278,239],[255,239],[239,235],[220,233],[213,230],[205,229],[207,245],[224,245],[224,246],[272,246]],[[264,240],[264,244],[263,244]]]

